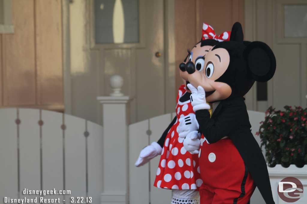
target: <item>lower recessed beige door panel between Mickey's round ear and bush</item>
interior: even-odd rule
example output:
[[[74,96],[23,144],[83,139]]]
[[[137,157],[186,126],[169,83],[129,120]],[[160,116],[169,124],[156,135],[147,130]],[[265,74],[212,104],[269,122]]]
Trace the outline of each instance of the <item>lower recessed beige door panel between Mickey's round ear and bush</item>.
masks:
[[[285,105],[300,104],[300,91],[297,90],[301,86],[299,50],[299,45],[274,45],[277,66],[272,81],[274,87],[272,105],[276,109],[283,109]]]

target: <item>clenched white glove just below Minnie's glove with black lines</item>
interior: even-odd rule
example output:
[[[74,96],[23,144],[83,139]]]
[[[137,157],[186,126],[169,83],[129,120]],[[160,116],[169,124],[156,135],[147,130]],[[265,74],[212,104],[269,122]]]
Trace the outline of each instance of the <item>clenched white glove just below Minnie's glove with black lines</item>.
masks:
[[[183,140],[183,146],[185,150],[191,154],[198,154],[200,148],[200,136],[197,130],[190,132]]]

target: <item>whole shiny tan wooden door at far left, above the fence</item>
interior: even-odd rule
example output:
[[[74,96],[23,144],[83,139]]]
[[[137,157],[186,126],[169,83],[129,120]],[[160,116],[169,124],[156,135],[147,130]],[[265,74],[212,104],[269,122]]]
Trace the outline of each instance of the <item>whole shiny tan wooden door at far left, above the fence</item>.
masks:
[[[61,1],[13,0],[12,23],[0,35],[0,107],[64,111]]]

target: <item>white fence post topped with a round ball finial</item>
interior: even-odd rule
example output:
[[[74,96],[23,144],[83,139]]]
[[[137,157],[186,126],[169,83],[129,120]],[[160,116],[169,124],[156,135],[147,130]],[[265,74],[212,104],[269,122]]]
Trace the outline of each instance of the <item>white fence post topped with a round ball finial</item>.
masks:
[[[111,96],[99,96],[103,109],[103,192],[101,203],[128,203],[128,114],[130,98],[121,93],[123,80],[110,80]]]

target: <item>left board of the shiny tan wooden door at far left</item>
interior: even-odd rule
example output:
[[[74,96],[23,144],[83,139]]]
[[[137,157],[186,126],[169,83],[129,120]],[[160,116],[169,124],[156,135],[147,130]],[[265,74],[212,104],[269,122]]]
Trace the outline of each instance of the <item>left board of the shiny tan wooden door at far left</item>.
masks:
[[[4,105],[35,104],[33,5],[33,0],[14,0],[14,34],[3,35]]]

